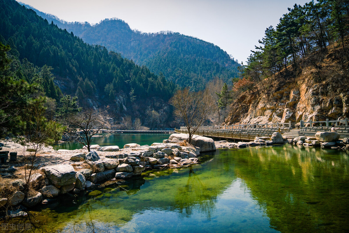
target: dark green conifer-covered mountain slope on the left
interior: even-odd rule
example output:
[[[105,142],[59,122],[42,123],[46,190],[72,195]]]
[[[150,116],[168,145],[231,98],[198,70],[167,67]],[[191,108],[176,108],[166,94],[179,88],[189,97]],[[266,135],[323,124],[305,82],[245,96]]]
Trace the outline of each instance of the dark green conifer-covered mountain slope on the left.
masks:
[[[168,124],[168,100],[176,90],[172,82],[120,53],[87,44],[16,1],[0,0],[0,42],[10,45],[16,64],[45,68],[49,78],[39,84],[58,102],[61,91],[79,97],[82,107],[109,106],[116,119],[140,118],[150,127]]]

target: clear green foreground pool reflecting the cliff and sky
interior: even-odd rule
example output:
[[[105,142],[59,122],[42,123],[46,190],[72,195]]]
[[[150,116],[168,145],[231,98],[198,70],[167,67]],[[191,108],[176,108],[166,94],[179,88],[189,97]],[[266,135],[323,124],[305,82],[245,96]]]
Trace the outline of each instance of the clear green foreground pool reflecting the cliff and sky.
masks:
[[[87,198],[32,211],[33,232],[348,232],[346,152],[292,145],[217,150]],[[40,212],[41,211],[41,212]]]

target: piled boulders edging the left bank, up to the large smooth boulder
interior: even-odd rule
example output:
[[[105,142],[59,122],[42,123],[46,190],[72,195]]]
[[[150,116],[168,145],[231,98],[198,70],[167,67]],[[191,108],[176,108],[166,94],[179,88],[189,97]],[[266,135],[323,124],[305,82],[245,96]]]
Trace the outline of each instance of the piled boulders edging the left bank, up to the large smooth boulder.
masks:
[[[92,191],[95,185],[107,180],[124,180],[141,175],[147,170],[176,168],[198,163],[199,147],[179,146],[175,143],[154,143],[151,146],[126,144],[118,146],[91,145],[89,153],[75,153],[71,156],[72,164],[59,164],[41,167],[42,174],[32,175],[30,182],[35,183],[35,191],[25,192],[26,181],[18,179],[12,186],[18,191],[9,198],[0,199],[3,206],[23,205],[32,207],[42,203],[44,198],[60,194]],[[95,151],[96,150],[96,151]],[[98,151],[116,152],[110,155],[98,155]],[[16,209],[16,208],[14,208]],[[17,208],[16,214],[25,213]]]

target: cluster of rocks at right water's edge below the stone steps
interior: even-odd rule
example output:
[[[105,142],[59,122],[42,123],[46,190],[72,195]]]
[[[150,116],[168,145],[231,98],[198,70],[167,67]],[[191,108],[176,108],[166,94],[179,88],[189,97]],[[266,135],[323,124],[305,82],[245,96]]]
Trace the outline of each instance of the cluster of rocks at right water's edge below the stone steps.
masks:
[[[349,150],[349,138],[339,140],[340,135],[336,132],[317,132],[315,137],[300,136],[289,137],[288,143],[302,146],[321,146],[322,148]]]

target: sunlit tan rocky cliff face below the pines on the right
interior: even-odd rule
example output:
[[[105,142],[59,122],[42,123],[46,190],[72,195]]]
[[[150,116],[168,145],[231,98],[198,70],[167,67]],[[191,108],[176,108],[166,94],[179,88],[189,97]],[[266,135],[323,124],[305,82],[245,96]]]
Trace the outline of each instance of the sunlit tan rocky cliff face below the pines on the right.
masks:
[[[348,55],[337,58],[343,52],[348,53],[348,48],[332,48],[321,54],[315,67],[312,61],[305,60],[297,64],[297,71],[284,70],[274,87],[261,88],[260,95],[240,94],[232,103],[225,124],[291,122],[299,125],[300,120],[325,121],[348,117]]]

